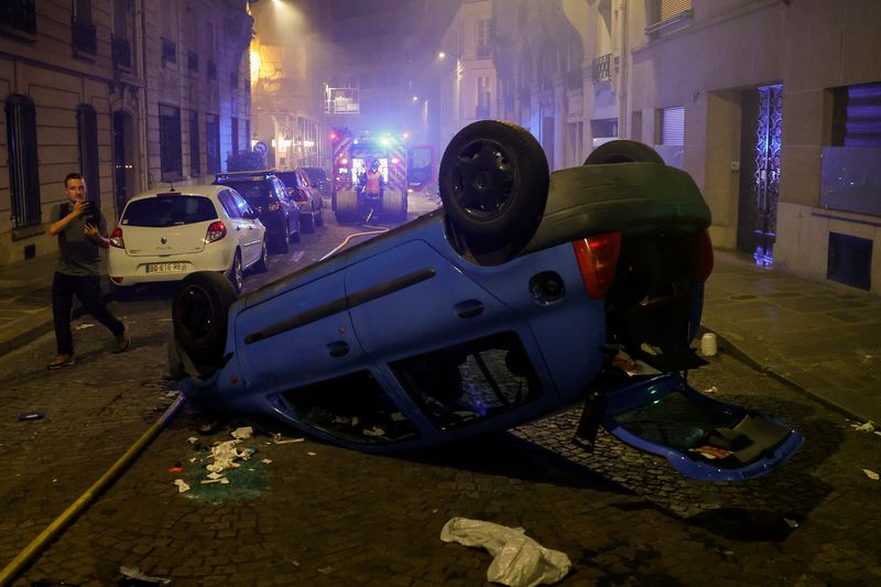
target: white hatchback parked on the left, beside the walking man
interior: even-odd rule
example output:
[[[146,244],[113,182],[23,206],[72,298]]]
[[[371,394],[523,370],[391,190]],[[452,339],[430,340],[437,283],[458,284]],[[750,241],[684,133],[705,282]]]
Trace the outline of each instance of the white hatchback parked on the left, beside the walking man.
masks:
[[[242,272],[252,267],[269,268],[265,228],[244,198],[224,185],[139,194],[110,235],[108,274],[120,293],[195,271],[222,273],[239,293]]]

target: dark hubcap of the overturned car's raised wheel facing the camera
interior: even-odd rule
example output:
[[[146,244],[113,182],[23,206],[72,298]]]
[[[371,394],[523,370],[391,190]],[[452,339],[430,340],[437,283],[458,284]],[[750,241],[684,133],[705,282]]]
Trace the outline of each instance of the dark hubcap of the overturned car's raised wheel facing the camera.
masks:
[[[516,175],[501,144],[476,140],[458,152],[450,184],[458,208],[475,220],[487,221],[511,206]]]

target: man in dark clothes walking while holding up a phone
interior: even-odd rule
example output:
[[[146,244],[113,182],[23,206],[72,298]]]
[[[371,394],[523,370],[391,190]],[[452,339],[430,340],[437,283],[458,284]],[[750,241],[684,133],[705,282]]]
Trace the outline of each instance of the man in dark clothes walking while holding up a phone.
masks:
[[[109,247],[104,236],[106,226],[101,210],[86,202],[83,175],[69,173],[64,178],[68,202],[52,208],[48,233],[58,237],[58,263],[52,280],[52,314],[58,354],[46,367],[61,369],[74,363],[74,337],[70,311],[74,295],[83,307],[104,324],[116,337],[119,351],[131,346],[129,328],[119,322],[101,301],[100,248]]]

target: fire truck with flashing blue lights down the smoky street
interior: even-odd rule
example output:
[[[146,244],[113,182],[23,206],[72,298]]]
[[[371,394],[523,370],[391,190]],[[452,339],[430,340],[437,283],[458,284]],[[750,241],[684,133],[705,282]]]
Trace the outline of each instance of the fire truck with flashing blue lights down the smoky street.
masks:
[[[335,128],[330,144],[333,209],[338,222],[362,221],[371,213],[389,220],[406,220],[407,194],[435,181],[434,149],[410,145],[406,135],[356,135],[348,128]],[[374,160],[384,184],[379,199],[368,197],[360,188],[360,178]]]

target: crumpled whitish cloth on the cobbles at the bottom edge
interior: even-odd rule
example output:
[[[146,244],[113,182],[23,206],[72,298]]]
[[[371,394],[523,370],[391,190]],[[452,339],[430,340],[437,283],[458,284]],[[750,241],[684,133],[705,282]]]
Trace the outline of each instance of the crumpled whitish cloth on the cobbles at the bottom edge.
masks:
[[[572,568],[565,553],[545,548],[526,536],[522,528],[508,528],[492,522],[452,518],[440,540],[466,546],[482,546],[492,555],[487,580],[511,587],[534,587],[563,579]]]

